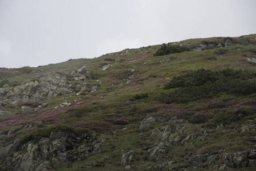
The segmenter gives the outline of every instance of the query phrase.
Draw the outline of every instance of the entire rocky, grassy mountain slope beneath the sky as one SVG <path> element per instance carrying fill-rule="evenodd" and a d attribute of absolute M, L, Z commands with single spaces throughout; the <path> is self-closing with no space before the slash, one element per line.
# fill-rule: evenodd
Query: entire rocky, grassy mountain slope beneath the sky
<path fill-rule="evenodd" d="M 0 170 L 255 170 L 256 35 L 170 44 L 1 68 Z"/>

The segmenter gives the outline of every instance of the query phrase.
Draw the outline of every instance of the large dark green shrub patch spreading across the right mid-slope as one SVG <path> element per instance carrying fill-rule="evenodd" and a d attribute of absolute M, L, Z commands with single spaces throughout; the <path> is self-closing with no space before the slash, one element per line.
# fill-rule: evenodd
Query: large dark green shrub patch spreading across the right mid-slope
<path fill-rule="evenodd" d="M 225 69 L 212 72 L 200 69 L 174 77 L 165 84 L 165 89 L 159 100 L 162 103 L 186 103 L 188 101 L 209 99 L 221 93 L 234 95 L 249 95 L 256 92 L 256 85 L 249 79 L 256 77 L 255 72 L 248 70 Z M 175 88 L 175 89 L 173 89 Z"/>

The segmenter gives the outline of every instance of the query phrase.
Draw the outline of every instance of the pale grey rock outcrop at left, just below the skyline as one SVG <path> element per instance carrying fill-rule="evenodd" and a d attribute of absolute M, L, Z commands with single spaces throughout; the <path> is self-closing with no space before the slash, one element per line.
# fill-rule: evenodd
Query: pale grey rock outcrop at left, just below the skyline
<path fill-rule="evenodd" d="M 78 70 L 79 74 L 87 74 L 87 67 L 84 66 Z M 0 96 L 3 100 L 17 106 L 25 101 L 37 101 L 42 97 L 60 96 L 74 93 L 72 83 L 75 80 L 84 81 L 84 75 L 71 76 L 75 71 L 63 70 L 62 72 L 51 72 L 50 74 L 40 75 L 37 80 L 16 86 L 9 87 L 5 84 L 0 88 Z M 7 105 L 1 102 L 0 105 Z"/>

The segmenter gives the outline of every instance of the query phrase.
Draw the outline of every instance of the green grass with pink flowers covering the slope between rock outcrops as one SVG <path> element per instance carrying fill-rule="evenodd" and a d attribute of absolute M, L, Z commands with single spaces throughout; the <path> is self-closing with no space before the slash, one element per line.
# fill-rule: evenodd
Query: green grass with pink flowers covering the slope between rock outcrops
<path fill-rule="evenodd" d="M 254 89 L 256 65 L 246 61 L 246 58 L 256 58 L 256 35 L 189 39 L 170 44 L 186 46 L 190 50 L 200 47 L 201 51 L 154 56 L 161 47 L 157 45 L 126 49 L 94 59 L 71 59 L 67 62 L 35 68 L 1 68 L 2 86 L 5 83 L 10 86 L 25 84 L 38 79 L 42 74 L 54 71 L 77 71 L 83 66 L 87 66 L 89 71 L 84 75 L 85 80 L 73 83 L 74 89 L 79 89 L 77 86 L 79 83 L 86 83 L 88 87 L 78 96 L 76 93 L 79 90 L 71 95 L 27 101 L 13 109 L 1 106 L 0 109 L 3 111 L 15 112 L 15 115 L 0 116 L 2 132 L 43 121 L 38 128 L 22 129 L 14 135 L 7 135 L 1 139 L 14 141 L 19 138 L 18 141 L 22 143 L 38 141 L 42 137 L 50 136 L 48 128 L 52 127 L 58 127 L 59 130 L 62 129 L 61 127 L 65 129 L 68 127 L 77 134 L 85 130 L 92 131 L 99 140 L 105 139 L 105 143 L 93 156 L 81 161 L 59 162 L 54 170 L 124 170 L 124 166 L 120 164 L 121 157 L 131 150 L 136 153 L 131 163 L 132 170 L 146 170 L 166 161 L 173 163 L 164 165 L 162 170 L 183 168 L 207 170 L 213 169 L 214 165 L 222 165 L 221 157 L 216 158 L 214 163 L 209 164 L 205 161 L 197 165 L 188 158 L 217 151 L 223 156 L 224 153 L 255 149 L 253 141 L 256 136 L 255 129 L 248 128 L 243 131 L 243 128 L 249 127 L 248 120 L 256 119 L 256 89 Z M 208 46 L 209 44 L 215 45 Z M 218 47 L 219 44 L 222 47 Z M 165 63 L 161 62 L 163 59 L 166 59 Z M 107 64 L 110 64 L 109 67 L 102 70 Z M 216 88 L 216 85 L 221 88 L 214 89 L 209 96 L 198 95 L 198 98 L 191 96 L 197 96 L 199 91 L 205 92 L 205 89 L 199 87 L 203 84 L 197 85 L 197 89 L 184 88 L 193 87 L 192 84 L 196 80 L 185 80 L 187 86 L 167 86 L 176 84 L 174 80 L 184 77 L 188 79 L 188 74 L 196 73 L 202 68 L 209 73 L 217 73 L 229 68 L 241 72 L 242 76 L 240 78 L 234 76 L 235 80 L 230 76 L 230 79 L 233 79 L 230 82 L 226 80 L 227 76 L 223 76 L 222 82 L 228 84 L 225 90 L 221 88 L 226 84 L 212 83 L 213 88 Z M 72 76 L 78 75 L 81 74 L 76 72 Z M 250 77 L 247 78 L 248 75 Z M 194 77 L 200 78 L 198 75 Z M 217 76 L 214 78 L 221 80 Z M 245 78 L 244 82 L 242 82 L 243 78 Z M 204 84 L 210 84 L 207 81 L 209 75 L 204 79 L 206 79 Z M 237 86 L 238 84 L 240 86 Z M 247 84 L 251 87 L 242 87 Z M 91 92 L 94 86 L 97 86 L 97 89 Z M 241 93 L 230 90 L 235 86 Z M 245 90 L 239 90 L 239 87 Z M 187 96 L 189 93 L 192 94 Z M 178 101 L 181 96 L 186 99 Z M 173 98 L 173 100 L 162 100 L 165 98 Z M 55 108 L 66 101 L 71 105 Z M 47 103 L 48 106 L 37 108 L 42 103 Z M 23 105 L 30 108 L 20 108 Z M 156 121 L 141 131 L 139 128 L 141 121 L 150 117 L 155 118 Z M 173 119 L 179 121 L 176 123 L 169 121 Z M 176 128 L 176 132 L 173 133 L 182 129 L 176 135 L 180 140 L 170 141 L 170 138 L 165 139 L 159 135 L 166 125 Z M 157 160 L 156 158 L 151 160 L 150 149 L 154 149 L 154 144 L 159 142 L 168 143 L 165 148 L 168 152 Z M 251 165 L 246 169 L 256 168 Z"/>

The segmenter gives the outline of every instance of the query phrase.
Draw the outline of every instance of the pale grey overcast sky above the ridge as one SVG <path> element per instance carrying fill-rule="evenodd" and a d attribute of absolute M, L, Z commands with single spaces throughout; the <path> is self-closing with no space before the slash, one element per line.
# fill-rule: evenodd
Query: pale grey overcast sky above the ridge
<path fill-rule="evenodd" d="M 256 33 L 255 0 L 0 0 L 0 67 Z"/>

